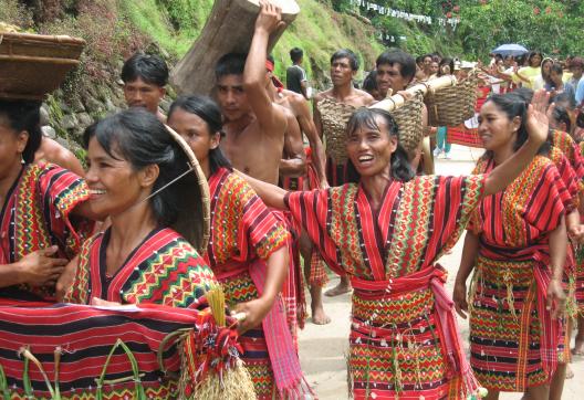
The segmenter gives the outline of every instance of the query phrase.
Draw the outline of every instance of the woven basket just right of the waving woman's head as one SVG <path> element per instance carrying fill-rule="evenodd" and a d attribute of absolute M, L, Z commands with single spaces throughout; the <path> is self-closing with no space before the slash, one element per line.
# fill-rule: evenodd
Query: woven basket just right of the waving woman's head
<path fill-rule="evenodd" d="M 424 139 L 424 120 L 421 110 L 424 108 L 424 95 L 416 95 L 404 103 L 404 105 L 392 112 L 399 131 L 399 144 L 406 151 L 414 151 L 421 139 Z"/>

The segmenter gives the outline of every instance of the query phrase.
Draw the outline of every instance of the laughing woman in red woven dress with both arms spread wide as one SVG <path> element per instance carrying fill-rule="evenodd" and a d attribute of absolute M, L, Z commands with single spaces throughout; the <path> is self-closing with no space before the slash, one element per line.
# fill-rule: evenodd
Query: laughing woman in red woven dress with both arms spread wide
<path fill-rule="evenodd" d="M 462 399 L 478 389 L 459 341 L 446 272 L 436 260 L 458 240 L 483 196 L 515 179 L 548 136 L 532 107 L 530 137 L 488 176 L 415 177 L 394 118 L 362 108 L 347 127 L 352 183 L 288 193 L 249 178 L 268 206 L 289 209 L 355 292 L 348 372 L 353 396 Z"/>

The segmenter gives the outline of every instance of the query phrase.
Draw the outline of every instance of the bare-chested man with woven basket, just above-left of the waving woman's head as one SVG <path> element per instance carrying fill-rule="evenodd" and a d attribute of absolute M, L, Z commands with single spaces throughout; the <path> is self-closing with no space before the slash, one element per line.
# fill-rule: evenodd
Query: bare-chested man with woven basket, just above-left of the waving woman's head
<path fill-rule="evenodd" d="M 333 87 L 314 97 L 314 124 L 326 143 L 326 179 L 331 186 L 346 182 L 346 124 L 355 109 L 368 106 L 375 99 L 367 92 L 353 86 L 358 60 L 351 50 L 338 50 L 331 56 Z M 336 296 L 351 290 L 348 277 L 341 276 L 340 284 L 325 295 Z"/>

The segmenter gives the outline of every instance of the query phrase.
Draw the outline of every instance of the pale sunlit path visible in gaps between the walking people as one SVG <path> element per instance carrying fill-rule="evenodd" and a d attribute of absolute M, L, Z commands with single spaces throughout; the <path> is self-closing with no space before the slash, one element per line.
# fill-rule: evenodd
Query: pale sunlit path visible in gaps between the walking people
<path fill-rule="evenodd" d="M 452 146 L 452 159 L 439 160 L 437 173 L 459 175 L 469 173 L 481 151 L 471 150 L 467 147 Z M 440 263 L 449 271 L 447 283 L 451 293 L 460 254 L 462 240 L 460 240 L 451 254 L 444 256 Z M 336 285 L 337 278 L 330 282 L 328 287 Z M 302 369 L 313 386 L 321 400 L 346 399 L 346 351 L 348 338 L 348 325 L 351 314 L 351 297 L 343 295 L 338 297 L 324 297 L 326 313 L 333 322 L 325 326 L 312 324 L 310 320 L 300 334 L 300 359 Z M 468 347 L 468 323 L 458 318 L 465 345 Z M 571 365 L 575 377 L 566 380 L 564 388 L 564 400 L 584 399 L 584 358 L 575 358 Z M 577 394 L 580 393 L 580 394 Z M 501 400 L 521 399 L 520 393 L 504 393 Z"/>

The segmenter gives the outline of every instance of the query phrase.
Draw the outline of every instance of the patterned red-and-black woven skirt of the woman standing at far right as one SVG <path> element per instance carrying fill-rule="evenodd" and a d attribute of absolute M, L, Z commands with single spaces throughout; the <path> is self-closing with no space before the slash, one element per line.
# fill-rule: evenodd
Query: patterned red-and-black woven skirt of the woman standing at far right
<path fill-rule="evenodd" d="M 479 256 L 470 290 L 470 364 L 481 386 L 524 391 L 549 380 L 543 370 L 533 261 Z M 565 333 L 564 333 L 565 335 Z M 566 357 L 563 340 L 559 361 Z"/>

